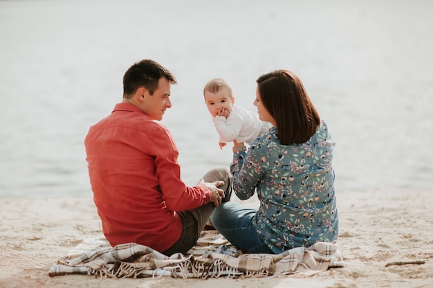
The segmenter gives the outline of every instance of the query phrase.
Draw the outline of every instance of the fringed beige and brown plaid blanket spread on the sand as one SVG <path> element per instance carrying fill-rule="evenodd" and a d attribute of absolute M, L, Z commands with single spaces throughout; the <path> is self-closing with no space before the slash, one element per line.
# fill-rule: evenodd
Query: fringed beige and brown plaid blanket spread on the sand
<path fill-rule="evenodd" d="M 203 231 L 188 253 L 176 253 L 170 257 L 135 243 L 110 247 L 104 238 L 84 241 L 52 265 L 48 275 L 80 273 L 112 278 L 239 278 L 317 273 L 343 266 L 344 260 L 336 244 L 319 242 L 278 255 L 246 254 L 230 245 L 217 231 Z"/>

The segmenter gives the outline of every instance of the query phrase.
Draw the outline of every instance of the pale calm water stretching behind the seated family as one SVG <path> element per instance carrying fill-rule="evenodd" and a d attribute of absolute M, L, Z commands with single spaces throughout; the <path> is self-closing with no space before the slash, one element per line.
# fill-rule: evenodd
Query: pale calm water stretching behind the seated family
<path fill-rule="evenodd" d="M 336 188 L 431 189 L 431 1 L 0 1 L 0 197 L 91 193 L 84 137 L 154 59 L 178 79 L 162 123 L 194 185 L 228 166 L 202 90 L 300 76 L 335 148 Z"/>

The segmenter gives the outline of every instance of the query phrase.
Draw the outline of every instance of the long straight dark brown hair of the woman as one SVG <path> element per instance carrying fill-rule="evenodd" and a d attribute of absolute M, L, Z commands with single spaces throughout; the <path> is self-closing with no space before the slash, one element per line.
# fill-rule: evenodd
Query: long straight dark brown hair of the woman
<path fill-rule="evenodd" d="M 262 104 L 275 119 L 281 144 L 302 144 L 313 136 L 320 116 L 295 73 L 275 70 L 261 75 L 257 84 Z"/>

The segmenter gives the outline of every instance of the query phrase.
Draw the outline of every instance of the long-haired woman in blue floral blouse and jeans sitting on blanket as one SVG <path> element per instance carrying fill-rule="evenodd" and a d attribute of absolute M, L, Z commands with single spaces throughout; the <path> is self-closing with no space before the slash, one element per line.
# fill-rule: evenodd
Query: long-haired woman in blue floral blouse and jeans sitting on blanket
<path fill-rule="evenodd" d="M 254 105 L 273 128 L 246 152 L 234 142 L 230 172 L 241 200 L 257 191 L 260 207 L 225 202 L 212 214 L 214 227 L 246 253 L 282 253 L 316 242 L 335 242 L 334 142 L 300 79 L 276 70 L 257 79 Z"/>

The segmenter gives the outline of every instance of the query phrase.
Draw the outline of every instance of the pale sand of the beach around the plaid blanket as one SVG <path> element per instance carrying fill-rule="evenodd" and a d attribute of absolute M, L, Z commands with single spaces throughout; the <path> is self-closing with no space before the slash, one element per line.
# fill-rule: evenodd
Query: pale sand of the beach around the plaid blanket
<path fill-rule="evenodd" d="M 345 267 L 310 276 L 208 280 L 50 278 L 48 268 L 57 258 L 84 239 L 102 236 L 91 195 L 0 198 L 0 287 L 433 287 L 432 191 L 341 191 L 337 195 L 338 245 Z M 255 200 L 246 202 L 250 207 L 255 204 Z M 409 264 L 414 261 L 418 264 Z"/>

